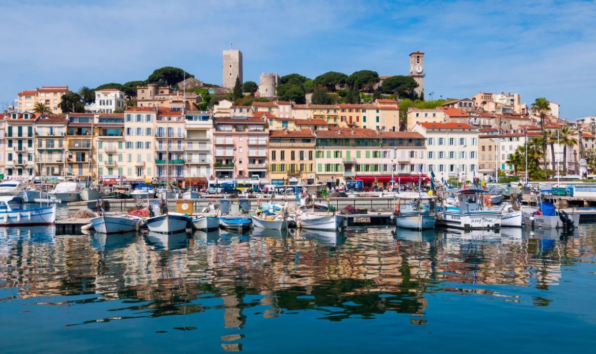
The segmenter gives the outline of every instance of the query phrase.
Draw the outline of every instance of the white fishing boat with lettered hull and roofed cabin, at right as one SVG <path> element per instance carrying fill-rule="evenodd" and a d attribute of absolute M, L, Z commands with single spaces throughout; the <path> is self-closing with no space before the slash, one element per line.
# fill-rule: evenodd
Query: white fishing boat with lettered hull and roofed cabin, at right
<path fill-rule="evenodd" d="M 485 210 L 484 189 L 451 189 L 446 193 L 453 195 L 454 204 L 437 207 L 437 224 L 455 229 L 495 229 L 501 227 L 501 212 Z"/>

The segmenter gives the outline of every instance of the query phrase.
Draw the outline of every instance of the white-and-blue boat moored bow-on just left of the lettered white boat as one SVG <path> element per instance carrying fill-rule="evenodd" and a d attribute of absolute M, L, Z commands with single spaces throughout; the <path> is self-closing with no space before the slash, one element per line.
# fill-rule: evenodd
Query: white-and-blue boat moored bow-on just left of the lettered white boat
<path fill-rule="evenodd" d="M 402 229 L 434 229 L 437 221 L 436 197 L 421 193 L 399 193 L 398 202 L 393 211 L 395 224 Z M 405 201 L 405 204 L 401 204 Z"/>

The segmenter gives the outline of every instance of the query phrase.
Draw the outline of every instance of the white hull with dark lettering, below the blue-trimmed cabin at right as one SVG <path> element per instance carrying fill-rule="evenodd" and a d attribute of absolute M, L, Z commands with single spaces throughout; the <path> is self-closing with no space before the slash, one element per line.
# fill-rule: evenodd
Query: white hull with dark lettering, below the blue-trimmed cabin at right
<path fill-rule="evenodd" d="M 464 230 L 496 229 L 501 227 L 498 211 L 437 211 L 437 225 Z"/>

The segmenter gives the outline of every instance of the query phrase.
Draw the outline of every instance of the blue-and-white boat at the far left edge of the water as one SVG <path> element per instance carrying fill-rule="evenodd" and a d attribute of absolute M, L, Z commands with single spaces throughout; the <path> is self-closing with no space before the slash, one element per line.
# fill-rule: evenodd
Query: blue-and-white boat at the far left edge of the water
<path fill-rule="evenodd" d="M 20 196 L 0 196 L 0 226 L 53 225 L 56 205 L 37 207 L 24 204 Z"/>

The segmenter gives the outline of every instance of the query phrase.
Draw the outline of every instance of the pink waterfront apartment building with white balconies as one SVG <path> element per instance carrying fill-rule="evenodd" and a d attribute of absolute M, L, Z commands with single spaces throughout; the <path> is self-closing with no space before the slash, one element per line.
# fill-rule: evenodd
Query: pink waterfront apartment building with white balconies
<path fill-rule="evenodd" d="M 267 180 L 269 129 L 262 118 L 215 119 L 213 170 L 218 179 Z"/>

